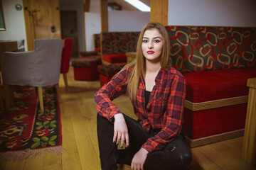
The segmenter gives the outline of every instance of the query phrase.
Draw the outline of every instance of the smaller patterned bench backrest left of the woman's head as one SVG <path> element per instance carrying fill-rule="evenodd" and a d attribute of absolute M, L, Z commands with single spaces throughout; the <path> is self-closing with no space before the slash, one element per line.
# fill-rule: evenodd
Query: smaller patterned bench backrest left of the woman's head
<path fill-rule="evenodd" d="M 122 54 L 135 52 L 140 32 L 102 33 L 102 54 Z"/>

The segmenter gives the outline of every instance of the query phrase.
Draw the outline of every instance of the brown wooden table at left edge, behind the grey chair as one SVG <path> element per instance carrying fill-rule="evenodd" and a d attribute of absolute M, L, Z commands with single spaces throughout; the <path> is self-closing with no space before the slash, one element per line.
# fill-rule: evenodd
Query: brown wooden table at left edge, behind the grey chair
<path fill-rule="evenodd" d="M 15 52 L 18 51 L 18 45 L 16 41 L 0 41 L 0 72 L 1 72 L 1 60 L 4 52 Z"/>

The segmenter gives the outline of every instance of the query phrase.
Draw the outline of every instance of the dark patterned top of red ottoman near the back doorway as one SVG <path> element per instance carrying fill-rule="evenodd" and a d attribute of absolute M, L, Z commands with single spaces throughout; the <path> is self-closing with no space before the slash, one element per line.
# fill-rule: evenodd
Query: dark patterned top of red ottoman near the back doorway
<path fill-rule="evenodd" d="M 93 67 L 101 64 L 100 55 L 77 59 L 72 62 L 73 67 Z"/>

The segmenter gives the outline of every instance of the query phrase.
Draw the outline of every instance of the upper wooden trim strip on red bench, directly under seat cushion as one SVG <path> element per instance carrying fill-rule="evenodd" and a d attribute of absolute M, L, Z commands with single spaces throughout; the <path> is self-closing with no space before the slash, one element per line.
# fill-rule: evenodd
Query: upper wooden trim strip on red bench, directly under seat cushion
<path fill-rule="evenodd" d="M 210 108 L 220 108 L 224 106 L 233 106 L 237 104 L 247 103 L 248 96 L 239 96 L 233 98 L 223 98 L 215 101 L 204 101 L 201 103 L 192 103 L 191 101 L 185 100 L 184 107 L 191 111 L 202 111 Z"/>

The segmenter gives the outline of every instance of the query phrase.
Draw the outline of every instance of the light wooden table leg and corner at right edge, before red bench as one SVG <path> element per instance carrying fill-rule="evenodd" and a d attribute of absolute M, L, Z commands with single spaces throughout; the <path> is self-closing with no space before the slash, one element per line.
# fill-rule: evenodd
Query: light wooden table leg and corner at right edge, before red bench
<path fill-rule="evenodd" d="M 256 165 L 256 78 L 248 79 L 250 87 L 247 104 L 245 135 L 242 145 L 242 159 L 245 162 Z"/>

